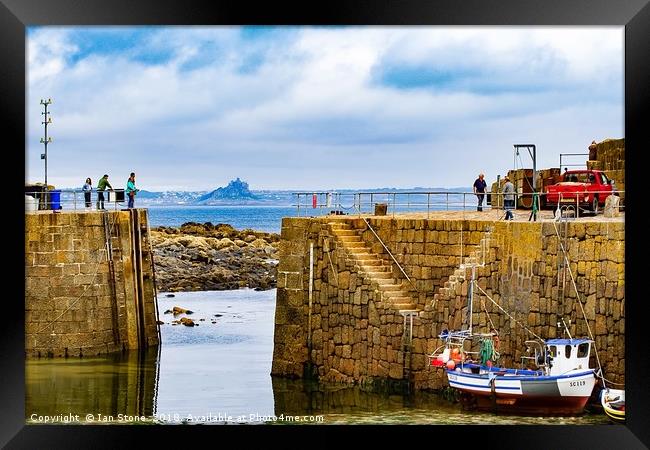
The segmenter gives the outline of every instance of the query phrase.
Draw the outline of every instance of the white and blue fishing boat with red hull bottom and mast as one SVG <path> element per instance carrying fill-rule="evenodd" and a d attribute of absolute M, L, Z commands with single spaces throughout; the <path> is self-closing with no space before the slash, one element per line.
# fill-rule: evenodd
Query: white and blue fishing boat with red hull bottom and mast
<path fill-rule="evenodd" d="M 473 332 L 475 286 L 475 266 L 472 266 L 468 289 L 469 326 L 460 331 L 444 330 L 439 335 L 444 344 L 429 355 L 430 364 L 445 371 L 449 386 L 463 394 L 461 398 L 465 406 L 522 415 L 576 415 L 584 412 L 596 384 L 596 370 L 589 367 L 594 341 L 572 338 L 564 320 L 562 323 L 568 338 L 542 339 L 476 286 L 511 320 L 535 337 L 525 342 L 527 349 L 521 357 L 521 367 L 497 367 L 500 355 L 496 330 Z M 468 342 L 470 345 L 466 345 Z M 476 344 L 479 350 L 470 351 Z"/>

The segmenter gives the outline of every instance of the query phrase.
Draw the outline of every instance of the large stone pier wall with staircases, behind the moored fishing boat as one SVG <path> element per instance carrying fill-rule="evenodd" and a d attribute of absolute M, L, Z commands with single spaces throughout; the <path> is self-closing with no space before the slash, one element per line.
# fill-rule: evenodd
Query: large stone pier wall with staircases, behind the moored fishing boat
<path fill-rule="evenodd" d="M 564 230 L 560 227 L 565 225 L 554 222 L 370 219 L 415 284 L 412 295 L 418 315 L 410 337 L 410 324 L 405 327 L 405 317 L 387 301 L 381 286 L 360 273 L 328 221 L 365 230 L 360 233 L 366 245 L 388 259 L 362 219 L 285 218 L 272 374 L 373 385 L 409 381 L 416 389 L 444 386 L 442 371 L 429 366 L 427 355 L 442 344 L 437 336 L 443 329 L 458 329 L 467 317 L 470 270 L 458 267 L 461 252 L 466 262 L 484 263 L 477 268 L 478 286 L 533 333 L 562 336 L 557 323 L 564 318 L 572 336 L 587 336 L 570 275 L 566 271 L 563 277 L 561 270 L 561 240 L 605 376 L 623 382 L 622 220 L 572 221 Z M 311 308 L 310 243 L 314 244 Z M 478 289 L 473 323 L 478 332 L 488 332 L 491 324 L 499 331 L 500 364 L 519 364 L 524 341 L 531 335 Z"/>

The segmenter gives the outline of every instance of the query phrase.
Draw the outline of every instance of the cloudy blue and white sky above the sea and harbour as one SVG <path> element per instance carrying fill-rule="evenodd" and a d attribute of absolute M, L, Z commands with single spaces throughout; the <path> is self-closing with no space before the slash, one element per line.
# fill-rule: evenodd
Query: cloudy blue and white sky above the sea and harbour
<path fill-rule="evenodd" d="M 26 181 L 471 186 L 624 137 L 623 27 L 29 27 Z M 570 160 L 584 163 L 587 157 Z"/>

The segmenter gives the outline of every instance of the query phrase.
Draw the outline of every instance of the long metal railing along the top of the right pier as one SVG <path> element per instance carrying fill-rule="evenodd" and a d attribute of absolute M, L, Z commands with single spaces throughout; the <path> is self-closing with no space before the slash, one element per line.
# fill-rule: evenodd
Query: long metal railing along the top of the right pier
<path fill-rule="evenodd" d="M 625 191 L 587 191 L 587 196 L 617 195 L 624 198 Z M 378 204 L 386 205 L 388 214 L 393 216 L 396 213 L 426 213 L 427 218 L 434 211 L 476 211 L 478 198 L 474 192 L 295 192 L 298 216 L 320 216 L 327 214 L 374 214 L 374 208 Z M 511 195 L 515 198 L 515 209 L 531 210 L 534 196 L 538 197 L 539 209 L 555 209 L 556 202 L 547 201 L 546 192 L 515 192 L 504 194 L 503 192 L 486 192 L 482 210 L 505 211 L 503 196 Z M 589 211 L 590 204 L 585 202 L 585 192 L 578 192 L 567 196 L 559 194 L 559 204 L 574 204 L 576 210 L 583 213 Z M 526 204 L 528 203 L 528 204 Z M 602 200 L 599 200 L 599 204 Z M 624 210 L 624 205 L 619 204 Z M 600 206 L 599 206 L 600 209 Z"/>

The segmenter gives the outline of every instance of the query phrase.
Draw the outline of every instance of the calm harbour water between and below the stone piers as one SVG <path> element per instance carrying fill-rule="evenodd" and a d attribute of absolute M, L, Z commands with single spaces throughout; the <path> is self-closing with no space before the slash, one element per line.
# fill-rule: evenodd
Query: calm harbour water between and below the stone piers
<path fill-rule="evenodd" d="M 194 311 L 189 317 L 199 326 L 172 325 L 174 317 L 164 311 L 174 306 Z M 282 415 L 322 415 L 319 423 L 325 424 L 538 424 L 540 420 L 468 413 L 432 393 L 384 395 L 359 387 L 272 378 L 275 290 L 161 295 L 159 311 L 165 322 L 160 349 L 103 358 L 27 360 L 28 421 L 32 414 L 78 414 L 81 421 L 86 414 L 125 414 L 163 423 L 282 423 L 267 420 Z M 544 423 L 608 420 L 599 413 L 544 418 Z"/>

